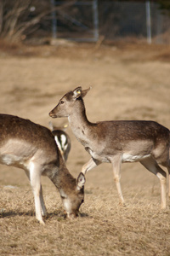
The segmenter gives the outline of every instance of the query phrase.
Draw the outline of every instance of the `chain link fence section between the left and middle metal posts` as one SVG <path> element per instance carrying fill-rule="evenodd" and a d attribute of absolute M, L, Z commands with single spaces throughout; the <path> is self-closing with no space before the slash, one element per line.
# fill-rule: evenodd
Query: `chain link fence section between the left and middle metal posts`
<path fill-rule="evenodd" d="M 51 0 L 53 8 L 60 4 L 64 3 Z M 57 20 L 61 27 L 59 27 Z M 58 35 L 63 33 L 63 27 L 67 24 L 67 33 L 71 34 L 71 36 L 73 35 L 73 37 L 75 36 L 70 39 L 78 41 L 97 41 L 99 38 L 98 1 L 77 1 L 69 7 L 65 7 L 65 11 L 58 14 L 56 11 L 53 11 L 52 24 L 53 38 L 58 38 Z M 84 38 L 81 37 L 81 33 L 84 35 Z"/>

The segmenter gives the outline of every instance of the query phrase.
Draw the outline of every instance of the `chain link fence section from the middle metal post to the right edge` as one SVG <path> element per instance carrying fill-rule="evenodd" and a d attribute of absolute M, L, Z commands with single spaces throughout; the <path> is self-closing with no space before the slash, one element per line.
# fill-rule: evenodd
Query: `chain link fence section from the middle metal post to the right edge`
<path fill-rule="evenodd" d="M 170 17 L 161 12 L 158 4 L 149 1 L 100 3 L 99 24 L 99 33 L 106 39 L 136 38 L 150 42 L 151 38 L 157 44 L 170 43 Z"/>

